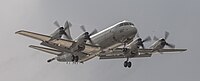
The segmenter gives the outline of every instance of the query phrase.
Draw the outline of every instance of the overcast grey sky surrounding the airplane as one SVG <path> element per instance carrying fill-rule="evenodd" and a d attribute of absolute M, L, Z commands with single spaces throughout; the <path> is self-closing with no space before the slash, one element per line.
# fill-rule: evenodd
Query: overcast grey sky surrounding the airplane
<path fill-rule="evenodd" d="M 0 1 L 0 81 L 199 81 L 200 77 L 199 0 L 1 0 Z M 46 60 L 52 55 L 28 48 L 39 41 L 15 35 L 25 29 L 51 34 L 69 20 L 75 38 L 85 25 L 88 31 L 102 30 L 122 20 L 132 21 L 142 38 L 163 37 L 183 53 L 131 59 L 133 67 L 123 67 L 125 59 L 98 60 L 70 64 Z M 149 46 L 150 43 L 146 43 Z"/>

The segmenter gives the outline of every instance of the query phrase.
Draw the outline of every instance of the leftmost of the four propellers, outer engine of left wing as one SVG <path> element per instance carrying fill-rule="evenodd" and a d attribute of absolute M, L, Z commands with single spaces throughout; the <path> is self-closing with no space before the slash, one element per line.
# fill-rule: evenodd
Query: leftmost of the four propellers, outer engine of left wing
<path fill-rule="evenodd" d="M 55 21 L 54 25 L 59 28 L 59 33 L 64 34 L 68 39 L 72 39 L 72 37 L 70 35 L 70 30 L 69 30 L 69 27 L 72 26 L 72 24 L 70 22 L 66 21 L 64 26 L 60 26 L 58 21 Z"/>

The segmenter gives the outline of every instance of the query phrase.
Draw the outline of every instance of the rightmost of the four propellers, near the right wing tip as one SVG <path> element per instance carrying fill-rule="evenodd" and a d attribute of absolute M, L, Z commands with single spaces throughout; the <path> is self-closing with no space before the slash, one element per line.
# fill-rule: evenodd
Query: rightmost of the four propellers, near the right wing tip
<path fill-rule="evenodd" d="M 167 38 L 169 37 L 169 32 L 165 32 L 165 37 L 164 38 L 161 38 L 160 40 L 154 36 L 154 38 L 158 39 L 159 41 L 161 41 L 161 45 L 167 45 L 168 47 L 170 48 L 175 48 L 175 45 L 174 44 L 170 44 L 168 43 L 166 40 Z"/>

